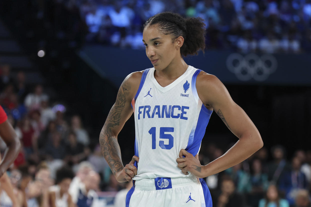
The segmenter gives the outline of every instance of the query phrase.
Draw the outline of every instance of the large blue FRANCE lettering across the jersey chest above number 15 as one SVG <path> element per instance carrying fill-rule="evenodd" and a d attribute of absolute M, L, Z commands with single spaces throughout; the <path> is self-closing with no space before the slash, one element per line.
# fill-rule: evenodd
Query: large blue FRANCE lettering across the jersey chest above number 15
<path fill-rule="evenodd" d="M 172 105 L 156 105 L 151 109 L 151 106 L 139 106 L 138 107 L 138 119 L 142 118 L 174 118 L 188 120 L 187 109 L 189 106 L 172 106 Z"/>

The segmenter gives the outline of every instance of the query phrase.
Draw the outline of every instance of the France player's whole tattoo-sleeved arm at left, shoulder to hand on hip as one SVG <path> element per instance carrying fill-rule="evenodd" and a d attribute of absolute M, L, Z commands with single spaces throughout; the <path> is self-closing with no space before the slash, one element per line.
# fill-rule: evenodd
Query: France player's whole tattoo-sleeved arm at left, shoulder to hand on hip
<path fill-rule="evenodd" d="M 141 77 L 142 72 L 134 72 L 124 79 L 119 88 L 117 99 L 100 132 L 101 151 L 118 182 L 131 181 L 137 174 L 137 169 L 134 166 L 134 161 L 138 161 L 137 156 L 132 158 L 130 164 L 123 166 L 118 133 L 133 113 L 131 101 L 138 90 Z"/>

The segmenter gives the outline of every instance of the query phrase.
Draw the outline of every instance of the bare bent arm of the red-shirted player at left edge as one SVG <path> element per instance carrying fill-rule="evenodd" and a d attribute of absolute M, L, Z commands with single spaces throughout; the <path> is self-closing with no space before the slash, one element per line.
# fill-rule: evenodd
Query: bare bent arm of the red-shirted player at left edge
<path fill-rule="evenodd" d="M 0 124 L 0 137 L 7 145 L 7 149 L 4 152 L 3 159 L 0 162 L 0 177 L 7 171 L 9 166 L 15 160 L 18 152 L 21 149 L 21 143 L 15 133 L 12 125 L 6 120 Z"/>

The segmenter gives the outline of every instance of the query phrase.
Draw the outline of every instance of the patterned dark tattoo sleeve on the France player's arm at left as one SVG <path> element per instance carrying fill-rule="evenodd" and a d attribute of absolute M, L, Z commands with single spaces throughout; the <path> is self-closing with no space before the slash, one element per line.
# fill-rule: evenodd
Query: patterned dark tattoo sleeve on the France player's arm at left
<path fill-rule="evenodd" d="M 117 173 L 123 169 L 121 160 L 121 150 L 117 137 L 112 133 L 112 129 L 120 124 L 121 113 L 125 107 L 126 97 L 129 95 L 130 85 L 126 80 L 119 88 L 117 100 L 112 106 L 107 116 L 106 122 L 100 132 L 100 148 L 112 173 Z"/>

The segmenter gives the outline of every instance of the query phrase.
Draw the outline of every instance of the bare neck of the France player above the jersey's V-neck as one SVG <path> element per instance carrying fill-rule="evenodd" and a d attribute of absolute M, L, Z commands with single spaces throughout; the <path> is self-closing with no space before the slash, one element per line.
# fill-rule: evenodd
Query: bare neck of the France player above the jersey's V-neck
<path fill-rule="evenodd" d="M 181 58 L 177 61 L 172 61 L 165 69 L 156 70 L 155 77 L 161 77 L 169 80 L 175 80 L 181 76 L 188 68 L 187 63 Z"/>

